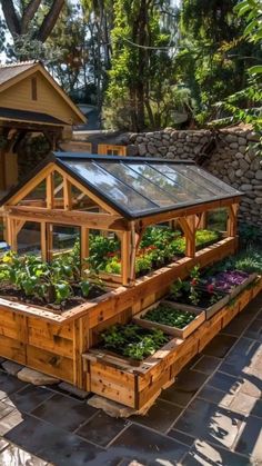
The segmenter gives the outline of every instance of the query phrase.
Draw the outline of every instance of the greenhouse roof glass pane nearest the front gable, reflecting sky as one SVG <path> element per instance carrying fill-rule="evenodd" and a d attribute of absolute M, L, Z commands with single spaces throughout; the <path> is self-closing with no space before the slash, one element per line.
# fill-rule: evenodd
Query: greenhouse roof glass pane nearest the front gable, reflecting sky
<path fill-rule="evenodd" d="M 104 171 L 94 162 L 69 160 L 63 162 L 77 171 L 85 181 L 100 190 L 101 194 L 131 212 L 145 211 L 158 207 L 155 204 L 140 196 L 132 188 L 129 188 L 112 175 Z"/>

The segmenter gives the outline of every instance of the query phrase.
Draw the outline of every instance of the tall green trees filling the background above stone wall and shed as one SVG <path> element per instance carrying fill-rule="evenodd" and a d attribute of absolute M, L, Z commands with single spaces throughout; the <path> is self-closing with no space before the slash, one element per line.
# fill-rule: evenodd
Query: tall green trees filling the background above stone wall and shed
<path fill-rule="evenodd" d="M 107 128 L 203 126 L 232 113 L 232 96 L 238 118 L 259 106 L 261 0 L 183 0 L 180 9 L 171 0 L 0 4 L 7 59 L 44 61 Z"/>

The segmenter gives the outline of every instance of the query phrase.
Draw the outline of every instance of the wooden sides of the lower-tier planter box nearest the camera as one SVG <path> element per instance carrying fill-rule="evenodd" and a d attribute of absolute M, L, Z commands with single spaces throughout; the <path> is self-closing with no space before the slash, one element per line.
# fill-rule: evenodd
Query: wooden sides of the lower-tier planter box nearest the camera
<path fill-rule="evenodd" d="M 107 351 L 91 350 L 84 354 L 90 390 L 137 410 L 144 408 L 160 395 L 163 387 L 173 383 L 175 371 L 172 365 L 181 351 L 181 341 L 178 338 L 170 340 L 139 367 Z M 196 353 L 196 343 L 190 345 L 183 351 L 184 360 L 189 361 Z M 175 365 L 179 367 L 178 363 Z"/>

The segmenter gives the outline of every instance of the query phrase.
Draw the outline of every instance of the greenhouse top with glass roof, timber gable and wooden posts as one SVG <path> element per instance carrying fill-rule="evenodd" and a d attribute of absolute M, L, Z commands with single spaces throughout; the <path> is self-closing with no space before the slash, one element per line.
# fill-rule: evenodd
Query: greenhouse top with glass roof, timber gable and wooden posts
<path fill-rule="evenodd" d="M 52 260 L 56 231 L 61 236 L 63 226 L 64 240 L 78 228 L 82 260 L 89 257 L 90 230 L 114 232 L 121 244 L 117 282 L 127 286 L 135 279 L 135 255 L 147 227 L 175 220 L 184 232 L 185 256 L 194 257 L 195 231 L 206 211 L 226 208 L 226 235 L 236 236 L 240 197 L 188 160 L 53 152 L 1 205 L 11 248 L 19 249 L 21 231 L 30 224 L 44 260 Z"/>

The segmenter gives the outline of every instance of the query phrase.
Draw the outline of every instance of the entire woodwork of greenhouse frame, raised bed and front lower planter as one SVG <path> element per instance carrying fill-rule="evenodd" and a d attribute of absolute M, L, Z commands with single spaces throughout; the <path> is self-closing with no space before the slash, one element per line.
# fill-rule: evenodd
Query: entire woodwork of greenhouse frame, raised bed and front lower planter
<path fill-rule="evenodd" d="M 61 177 L 57 189 L 56 173 Z M 43 181 L 46 199 L 27 199 L 28 195 Z M 73 196 L 73 188 L 78 190 L 77 197 Z M 112 231 L 121 242 L 121 275 L 110 277 L 111 290 L 61 315 L 44 307 L 0 298 L 0 356 L 95 393 L 102 393 L 99 374 L 104 376 L 104 380 L 111 377 L 104 388 L 104 396 L 135 409 L 144 408 L 164 386 L 172 383 L 175 374 L 199 350 L 199 347 L 219 331 L 221 321 L 218 324 L 211 319 L 209 324 L 203 323 L 194 328 L 192 335 L 184 335 L 185 346 L 181 346 L 180 338 L 179 341 L 178 338 L 175 341 L 172 340 L 164 348 L 167 359 L 163 359 L 159 351 L 158 364 L 152 359 L 150 361 L 152 371 L 147 369 L 143 375 L 141 369 L 135 374 L 125 370 L 123 361 L 121 369 L 119 361 L 114 361 L 112 366 L 112 360 L 108 357 L 101 361 L 98 355 L 91 354 L 90 349 L 97 345 L 98 334 L 101 330 L 115 323 L 125 324 L 132 320 L 138 313 L 167 295 L 172 282 L 178 278 L 185 278 L 195 265 L 205 267 L 235 252 L 239 199 L 236 196 L 138 219 L 125 218 L 112 205 L 108 205 L 105 198 L 100 198 L 91 188 L 83 186 L 81 179 L 74 178 L 73 173 L 70 175 L 56 161 L 49 161 L 20 190 L 9 196 L 3 206 L 6 232 L 11 248 L 17 249 L 18 234 L 27 221 L 38 222 L 42 258 L 51 260 L 52 226 L 78 227 L 83 264 L 83 259 L 90 254 L 90 230 L 99 230 L 104 235 L 107 231 Z M 79 201 L 82 204 L 78 205 Z M 204 225 L 205 212 L 216 207 L 229 209 L 228 237 L 196 250 L 195 231 Z M 137 279 L 135 255 L 142 236 L 148 226 L 165 221 L 172 225 L 178 222 L 181 226 L 185 237 L 185 257 Z M 84 274 L 84 267 L 82 271 Z M 224 318 L 229 319 L 228 313 L 224 314 Z M 195 340 L 193 335 L 200 335 L 202 326 L 205 326 L 206 331 Z M 87 351 L 89 356 L 82 358 Z M 114 367 L 114 375 L 111 373 L 109 376 L 108 367 L 111 367 L 110 370 Z M 120 373 L 122 375 L 119 375 Z M 115 395 L 114 388 L 111 389 L 112 395 L 109 394 L 113 377 L 117 386 L 119 385 L 117 393 L 120 395 Z"/>

